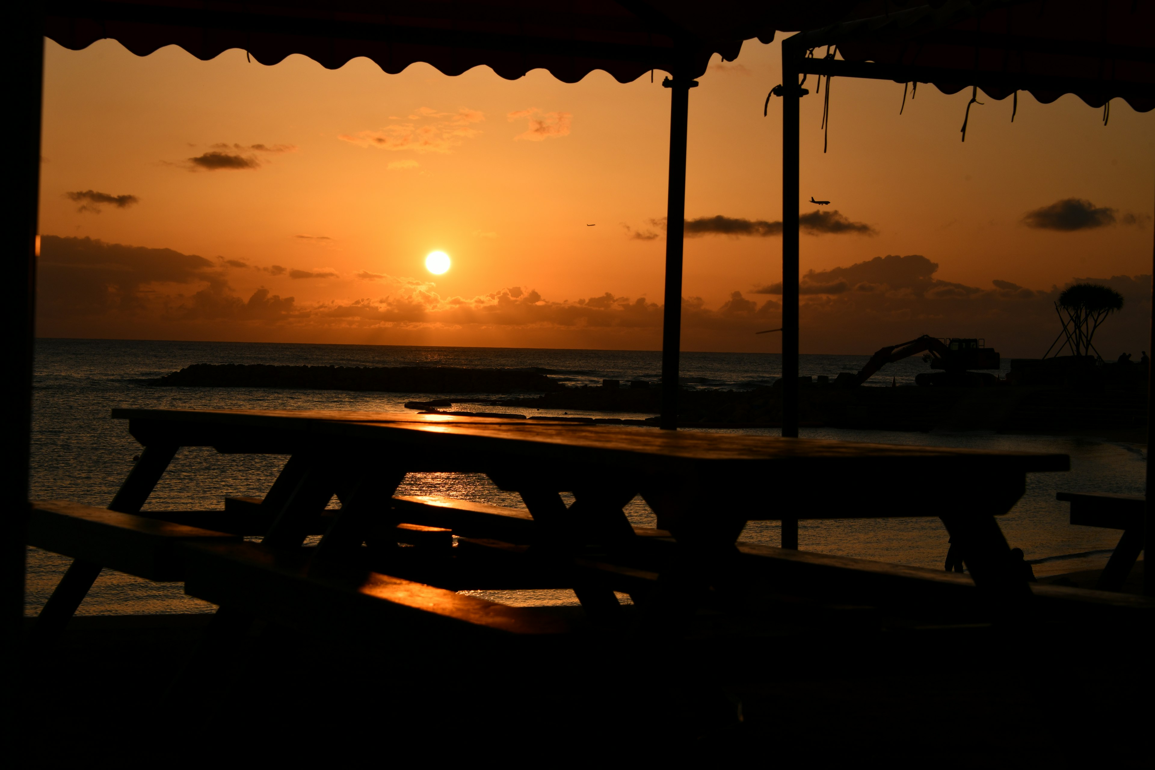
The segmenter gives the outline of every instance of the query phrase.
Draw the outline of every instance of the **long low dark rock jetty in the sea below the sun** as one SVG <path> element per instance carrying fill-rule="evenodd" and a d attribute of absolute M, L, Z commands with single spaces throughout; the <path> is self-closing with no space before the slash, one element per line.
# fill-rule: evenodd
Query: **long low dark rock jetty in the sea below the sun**
<path fill-rule="evenodd" d="M 194 364 L 149 384 L 161 388 L 291 388 L 381 393 L 550 393 L 562 386 L 544 374 L 452 366 L 275 366 Z"/>

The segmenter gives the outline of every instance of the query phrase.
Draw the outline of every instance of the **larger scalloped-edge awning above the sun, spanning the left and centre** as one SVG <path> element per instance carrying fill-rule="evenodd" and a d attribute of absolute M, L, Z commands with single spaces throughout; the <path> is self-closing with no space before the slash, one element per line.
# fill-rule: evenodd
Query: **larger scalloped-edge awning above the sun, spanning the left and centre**
<path fill-rule="evenodd" d="M 651 69 L 684 77 L 710 57 L 732 60 L 743 40 L 813 29 L 856 3 L 787 0 L 191 0 L 49 1 L 45 35 L 81 50 L 112 38 L 137 55 L 179 45 L 207 60 L 240 48 L 273 65 L 298 53 L 336 69 L 366 57 L 387 73 L 424 61 L 446 75 L 480 65 L 501 77 L 547 69 L 567 83 L 595 69 L 628 82 Z"/>

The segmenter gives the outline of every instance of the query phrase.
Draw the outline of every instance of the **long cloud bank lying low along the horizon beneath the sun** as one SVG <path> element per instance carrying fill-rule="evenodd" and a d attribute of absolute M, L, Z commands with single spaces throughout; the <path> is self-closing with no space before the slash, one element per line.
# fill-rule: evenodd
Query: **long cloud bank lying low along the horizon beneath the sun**
<path fill-rule="evenodd" d="M 298 302 L 264 286 L 234 289 L 229 283 L 233 276 L 263 276 L 232 272 L 226 262 L 173 249 L 44 236 L 38 332 L 627 350 L 661 345 L 663 308 L 646 297 L 604 291 L 567 300 L 516 285 L 444 296 L 430 282 L 363 271 L 357 277 L 367 283 L 329 285 L 334 292 L 371 287 L 372 297 Z M 1067 285 L 1081 282 L 1110 286 L 1126 299 L 1124 311 L 1096 332 L 1103 356 L 1147 349 L 1150 276 L 1074 277 Z M 982 286 L 945 281 L 936 262 L 917 254 L 811 270 L 800 281 L 802 350 L 869 354 L 931 334 L 982 337 L 1005 358 L 1037 358 L 1059 334 L 1053 301 L 1063 289 L 1037 290 L 1001 278 Z M 711 302 L 684 297 L 683 344 L 692 350 L 774 352 L 777 342 L 754 332 L 781 326 L 781 290 L 770 285 L 758 292 L 730 291 Z"/>

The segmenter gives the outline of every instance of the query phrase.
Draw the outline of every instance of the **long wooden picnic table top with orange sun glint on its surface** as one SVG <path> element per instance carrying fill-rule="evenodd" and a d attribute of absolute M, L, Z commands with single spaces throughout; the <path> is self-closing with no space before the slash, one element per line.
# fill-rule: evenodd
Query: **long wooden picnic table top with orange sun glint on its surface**
<path fill-rule="evenodd" d="M 648 427 L 551 423 L 511 418 L 417 414 L 412 412 L 267 411 L 114 409 L 114 419 L 131 420 L 137 439 L 161 443 L 171 434 L 177 446 L 217 446 L 230 436 L 261 436 L 276 433 L 320 446 L 356 442 L 382 449 L 397 444 L 462 454 L 524 456 L 538 462 L 551 459 L 595 464 L 678 461 L 693 464 L 742 466 L 848 464 L 860 474 L 864 466 L 878 472 L 1024 473 L 1066 471 L 1066 455 L 914 447 L 817 439 L 782 439 L 765 435 L 660 431 Z M 148 443 L 149 441 L 146 441 Z M 664 463 L 662 463 L 664 464 Z M 957 479 L 964 483 L 963 479 Z M 978 480 L 978 479 L 976 479 Z M 880 484 L 901 479 L 880 478 Z"/>

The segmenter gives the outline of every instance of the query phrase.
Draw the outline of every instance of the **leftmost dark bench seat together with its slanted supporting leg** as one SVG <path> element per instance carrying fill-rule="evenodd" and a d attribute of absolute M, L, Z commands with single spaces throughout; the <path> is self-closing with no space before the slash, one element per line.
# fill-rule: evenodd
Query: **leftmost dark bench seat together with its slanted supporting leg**
<path fill-rule="evenodd" d="M 35 643 L 50 644 L 64 630 L 100 569 L 114 569 L 149 581 L 180 581 L 184 578 L 184 552 L 178 544 L 239 540 L 239 534 L 107 508 L 60 500 L 33 501 L 28 544 L 73 559 L 37 616 Z"/>

